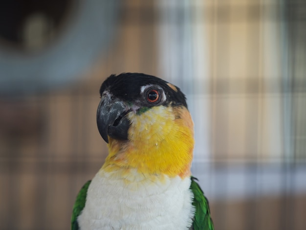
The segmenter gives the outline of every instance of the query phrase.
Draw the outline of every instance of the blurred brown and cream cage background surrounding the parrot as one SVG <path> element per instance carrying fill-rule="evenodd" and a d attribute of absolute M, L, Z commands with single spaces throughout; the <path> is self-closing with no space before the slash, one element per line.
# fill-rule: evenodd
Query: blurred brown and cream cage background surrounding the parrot
<path fill-rule="evenodd" d="M 305 230 L 306 2 L 1 0 L 0 229 L 64 230 L 112 73 L 187 96 L 217 230 Z"/>

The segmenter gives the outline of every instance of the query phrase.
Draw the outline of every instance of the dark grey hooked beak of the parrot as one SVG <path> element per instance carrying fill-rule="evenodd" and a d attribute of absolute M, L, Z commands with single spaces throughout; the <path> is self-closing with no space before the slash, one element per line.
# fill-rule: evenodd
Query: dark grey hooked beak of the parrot
<path fill-rule="evenodd" d="M 109 137 L 120 140 L 128 139 L 130 121 L 126 117 L 128 107 L 109 96 L 101 99 L 97 110 L 97 125 L 101 137 L 109 143 Z"/>

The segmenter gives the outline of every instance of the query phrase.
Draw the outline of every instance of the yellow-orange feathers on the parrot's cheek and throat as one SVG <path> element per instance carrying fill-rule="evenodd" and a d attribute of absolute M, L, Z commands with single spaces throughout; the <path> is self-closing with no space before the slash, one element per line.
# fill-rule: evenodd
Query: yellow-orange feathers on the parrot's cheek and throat
<path fill-rule="evenodd" d="M 181 178 L 191 175 L 194 131 L 185 107 L 156 106 L 128 117 L 129 141 L 109 138 L 105 170 L 136 169 L 143 174 Z"/>

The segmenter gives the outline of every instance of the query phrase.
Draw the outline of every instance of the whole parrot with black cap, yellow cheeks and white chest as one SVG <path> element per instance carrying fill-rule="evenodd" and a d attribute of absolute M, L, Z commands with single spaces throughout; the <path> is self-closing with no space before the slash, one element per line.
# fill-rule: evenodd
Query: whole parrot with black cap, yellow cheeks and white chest
<path fill-rule="evenodd" d="M 144 73 L 100 87 L 98 131 L 108 156 L 73 206 L 71 230 L 214 230 L 191 174 L 194 123 L 175 85 Z"/>

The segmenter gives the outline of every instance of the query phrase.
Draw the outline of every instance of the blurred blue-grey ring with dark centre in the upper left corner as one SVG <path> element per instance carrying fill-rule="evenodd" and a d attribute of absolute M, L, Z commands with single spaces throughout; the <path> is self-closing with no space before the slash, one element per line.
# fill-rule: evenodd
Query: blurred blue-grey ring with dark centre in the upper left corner
<path fill-rule="evenodd" d="M 0 95 L 74 82 L 104 53 L 118 0 L 1 1 Z"/>

